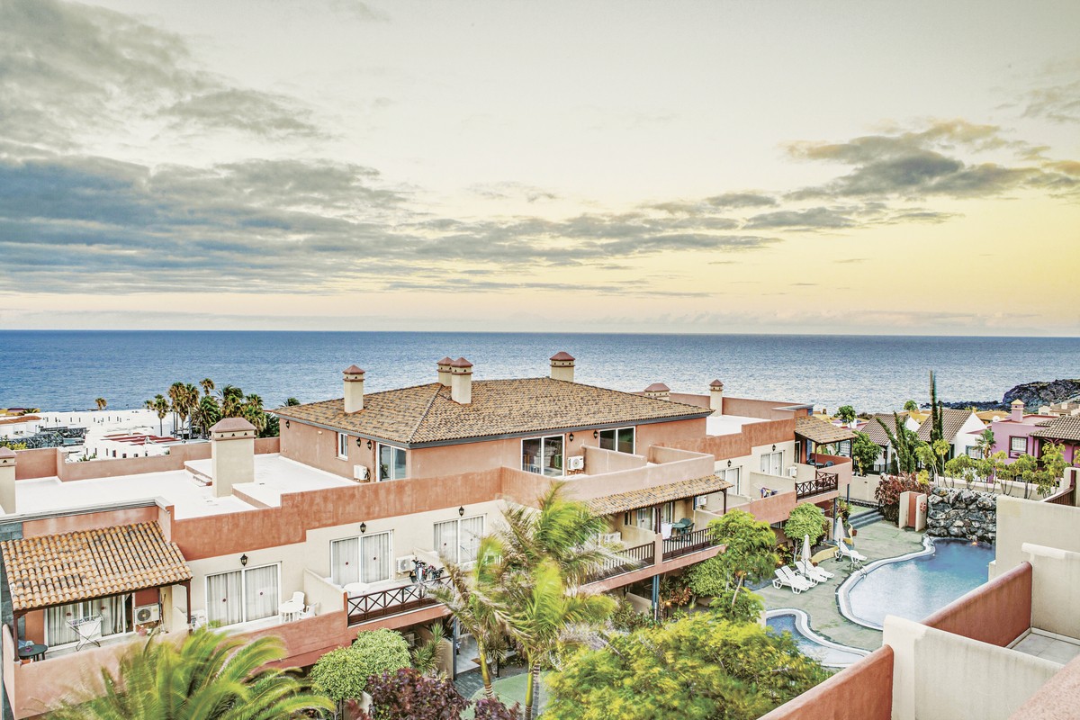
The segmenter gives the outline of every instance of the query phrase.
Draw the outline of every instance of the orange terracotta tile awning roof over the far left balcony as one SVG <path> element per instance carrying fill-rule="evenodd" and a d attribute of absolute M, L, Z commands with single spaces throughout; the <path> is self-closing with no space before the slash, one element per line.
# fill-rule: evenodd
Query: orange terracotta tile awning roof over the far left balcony
<path fill-rule="evenodd" d="M 157 522 L 8 540 L 0 553 L 15 612 L 191 580 Z"/>

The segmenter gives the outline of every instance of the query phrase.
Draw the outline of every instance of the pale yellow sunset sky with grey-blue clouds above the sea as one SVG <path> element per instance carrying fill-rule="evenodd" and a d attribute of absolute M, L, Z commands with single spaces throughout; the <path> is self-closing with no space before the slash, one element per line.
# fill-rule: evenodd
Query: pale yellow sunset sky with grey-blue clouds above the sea
<path fill-rule="evenodd" d="M 1077 335 L 1077 27 L 0 0 L 0 328 Z"/>

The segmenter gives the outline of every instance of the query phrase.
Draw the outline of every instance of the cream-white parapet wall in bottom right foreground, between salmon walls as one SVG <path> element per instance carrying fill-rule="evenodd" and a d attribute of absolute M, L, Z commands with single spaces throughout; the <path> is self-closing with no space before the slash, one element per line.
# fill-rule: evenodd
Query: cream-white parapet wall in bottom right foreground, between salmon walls
<path fill-rule="evenodd" d="M 1007 720 L 1063 665 L 889 615 L 892 720 Z"/>

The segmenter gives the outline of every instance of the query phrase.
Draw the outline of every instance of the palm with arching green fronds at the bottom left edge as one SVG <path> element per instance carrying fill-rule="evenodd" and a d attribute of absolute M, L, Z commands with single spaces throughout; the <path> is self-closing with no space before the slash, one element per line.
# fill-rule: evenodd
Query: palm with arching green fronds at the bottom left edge
<path fill-rule="evenodd" d="M 179 647 L 151 639 L 120 661 L 116 676 L 102 671 L 105 694 L 73 699 L 56 720 L 276 720 L 332 710 L 291 671 L 278 638 L 254 641 L 200 629 Z"/>

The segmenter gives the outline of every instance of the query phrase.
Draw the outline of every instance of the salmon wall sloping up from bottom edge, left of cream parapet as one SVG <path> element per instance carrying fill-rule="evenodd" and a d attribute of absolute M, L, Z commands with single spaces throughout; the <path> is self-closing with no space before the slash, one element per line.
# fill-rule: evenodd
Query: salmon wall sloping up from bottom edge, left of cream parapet
<path fill-rule="evenodd" d="M 806 720 L 806 718 L 890 720 L 892 661 L 892 648 L 889 646 L 878 648 L 816 688 L 761 716 L 760 720 Z"/>

